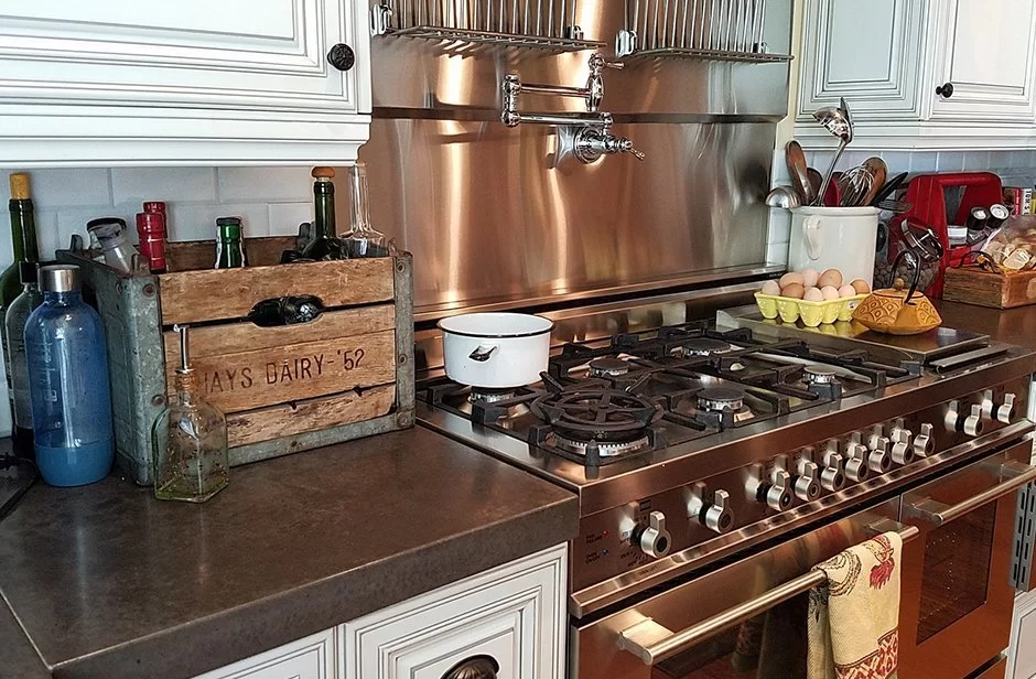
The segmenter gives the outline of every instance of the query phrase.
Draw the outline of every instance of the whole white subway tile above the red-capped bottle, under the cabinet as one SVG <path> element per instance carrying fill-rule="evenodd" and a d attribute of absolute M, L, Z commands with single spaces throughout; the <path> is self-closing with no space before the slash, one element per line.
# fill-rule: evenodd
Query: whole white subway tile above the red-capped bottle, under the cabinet
<path fill-rule="evenodd" d="M 116 205 L 133 204 L 133 214 L 144 201 L 216 202 L 213 168 L 112 168 L 111 197 Z"/>

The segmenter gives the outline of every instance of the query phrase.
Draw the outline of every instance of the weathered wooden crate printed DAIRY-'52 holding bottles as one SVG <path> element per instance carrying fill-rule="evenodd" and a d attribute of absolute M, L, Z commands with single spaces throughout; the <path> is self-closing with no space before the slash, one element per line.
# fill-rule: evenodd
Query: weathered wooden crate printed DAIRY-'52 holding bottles
<path fill-rule="evenodd" d="M 107 332 L 117 465 L 151 483 L 151 424 L 180 363 L 173 324 L 191 325 L 203 397 L 227 416 L 231 465 L 413 424 L 412 259 L 276 263 L 294 238 L 247 241 L 249 267 L 212 269 L 212 240 L 169 244 L 170 271 L 78 265 Z M 245 320 L 258 302 L 312 294 L 326 311 L 299 325 Z"/>

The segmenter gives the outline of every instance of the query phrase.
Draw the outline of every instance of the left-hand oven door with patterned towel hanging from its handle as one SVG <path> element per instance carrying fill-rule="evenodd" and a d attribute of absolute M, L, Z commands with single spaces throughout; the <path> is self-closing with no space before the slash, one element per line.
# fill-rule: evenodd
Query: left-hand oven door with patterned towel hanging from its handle
<path fill-rule="evenodd" d="M 799 679 L 806 606 L 823 575 L 812 567 L 876 534 L 917 529 L 889 502 L 827 524 L 672 586 L 633 606 L 575 623 L 573 679 Z M 905 531 L 905 532 L 904 532 Z"/>

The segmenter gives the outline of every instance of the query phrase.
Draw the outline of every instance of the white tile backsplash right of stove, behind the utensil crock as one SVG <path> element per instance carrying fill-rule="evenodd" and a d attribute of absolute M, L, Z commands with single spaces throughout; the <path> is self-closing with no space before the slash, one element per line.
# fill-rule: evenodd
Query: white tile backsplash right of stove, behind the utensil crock
<path fill-rule="evenodd" d="M 850 147 L 851 148 L 851 147 Z M 831 152 L 812 152 L 806 154 L 810 166 L 821 172 L 825 171 L 831 162 Z M 846 151 L 839 161 L 839 169 L 852 168 L 867 158 L 875 155 L 868 152 Z M 1008 186 L 1033 186 L 1036 184 L 1036 151 L 969 151 L 967 153 L 918 151 L 908 153 L 895 151 L 878 153 L 888 165 L 889 174 L 909 172 L 910 174 L 929 174 L 932 172 L 995 172 Z M 774 153 L 773 164 L 774 186 L 790 183 L 788 169 L 785 164 L 784 149 Z M 770 209 L 769 228 L 767 233 L 766 259 L 774 263 L 787 263 L 788 242 L 791 235 L 791 215 L 784 209 Z"/>

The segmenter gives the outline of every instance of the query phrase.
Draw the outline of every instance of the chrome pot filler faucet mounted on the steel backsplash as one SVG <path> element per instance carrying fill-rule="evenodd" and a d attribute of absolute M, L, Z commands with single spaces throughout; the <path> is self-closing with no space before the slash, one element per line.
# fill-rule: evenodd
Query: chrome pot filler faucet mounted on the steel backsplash
<path fill-rule="evenodd" d="M 565 146 L 581 162 L 592 163 L 602 155 L 616 153 L 632 153 L 637 160 L 645 155 L 633 148 L 633 142 L 625 137 L 612 134 L 612 114 L 602 111 L 601 100 L 604 98 L 604 69 L 622 68 L 622 62 L 608 62 L 594 53 L 590 57 L 590 77 L 585 87 L 566 87 L 564 85 L 532 85 L 522 83 L 517 74 L 504 76 L 504 110 L 500 111 L 500 121 L 507 127 L 518 127 L 522 122 L 540 125 L 557 125 L 562 128 L 574 128 L 563 133 Z M 578 97 L 586 103 L 585 114 L 520 114 L 518 112 L 518 95 L 521 93 L 551 95 L 555 97 Z"/>

